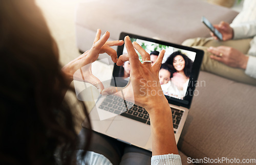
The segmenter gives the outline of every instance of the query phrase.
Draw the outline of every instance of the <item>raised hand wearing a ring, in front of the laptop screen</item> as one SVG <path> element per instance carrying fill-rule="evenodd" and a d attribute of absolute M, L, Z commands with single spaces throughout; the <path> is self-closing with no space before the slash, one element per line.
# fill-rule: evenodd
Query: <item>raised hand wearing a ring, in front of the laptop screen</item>
<path fill-rule="evenodd" d="M 120 56 L 117 65 L 122 65 L 127 60 L 130 61 L 130 82 L 124 88 L 106 88 L 102 91 L 102 95 L 115 94 L 122 97 L 122 91 L 126 100 L 129 101 L 129 99 L 134 97 L 135 104 L 144 107 L 148 113 L 151 113 L 152 104 L 158 104 L 159 102 L 167 103 L 158 76 L 165 51 L 162 50 L 160 52 L 153 66 L 149 62 L 142 64 L 134 48 L 140 53 L 143 61 L 150 61 L 150 55 L 137 42 L 132 43 L 129 36 L 126 36 L 124 41 L 129 55 Z"/>

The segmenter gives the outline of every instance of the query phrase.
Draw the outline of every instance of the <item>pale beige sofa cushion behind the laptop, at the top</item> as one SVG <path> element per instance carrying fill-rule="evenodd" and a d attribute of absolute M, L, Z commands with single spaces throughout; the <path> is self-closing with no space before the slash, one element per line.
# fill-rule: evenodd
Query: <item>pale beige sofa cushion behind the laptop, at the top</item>
<path fill-rule="evenodd" d="M 237 14 L 201 0 L 86 1 L 79 4 L 76 12 L 77 45 L 81 51 L 90 49 L 98 28 L 103 33 L 109 31 L 112 40 L 119 39 L 121 32 L 128 32 L 182 43 L 188 38 L 209 36 L 201 16 L 219 23 L 231 22 Z"/>

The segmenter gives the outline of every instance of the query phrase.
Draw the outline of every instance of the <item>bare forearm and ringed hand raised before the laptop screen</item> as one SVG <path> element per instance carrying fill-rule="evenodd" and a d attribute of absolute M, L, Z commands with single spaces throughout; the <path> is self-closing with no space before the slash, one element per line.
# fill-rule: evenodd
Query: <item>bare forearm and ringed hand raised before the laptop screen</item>
<path fill-rule="evenodd" d="M 164 50 L 162 50 L 153 66 L 151 63 L 141 63 L 138 54 L 142 56 L 142 61 L 150 61 L 150 55 L 144 51 L 136 42 L 131 42 L 128 36 L 124 39 L 129 59 L 127 56 L 119 57 L 117 64 L 122 65 L 123 61 L 130 61 L 130 80 L 125 88 L 108 88 L 102 91 L 102 95 L 115 94 L 124 98 L 131 98 L 133 91 L 135 104 L 146 109 L 150 114 L 152 131 L 152 153 L 154 155 L 178 154 L 176 146 L 172 111 L 163 95 L 159 82 L 159 69 L 162 64 Z M 121 91 L 122 90 L 122 93 Z M 116 93 L 115 93 L 116 92 Z M 178 160 L 180 161 L 180 159 Z"/>

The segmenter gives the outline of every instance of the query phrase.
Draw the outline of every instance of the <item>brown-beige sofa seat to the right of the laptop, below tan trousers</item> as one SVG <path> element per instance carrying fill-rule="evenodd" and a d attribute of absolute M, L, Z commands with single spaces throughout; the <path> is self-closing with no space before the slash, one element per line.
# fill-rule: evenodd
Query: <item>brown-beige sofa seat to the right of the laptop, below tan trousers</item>
<path fill-rule="evenodd" d="M 198 82 L 178 148 L 193 158 L 255 158 L 256 87 L 206 72 Z"/>

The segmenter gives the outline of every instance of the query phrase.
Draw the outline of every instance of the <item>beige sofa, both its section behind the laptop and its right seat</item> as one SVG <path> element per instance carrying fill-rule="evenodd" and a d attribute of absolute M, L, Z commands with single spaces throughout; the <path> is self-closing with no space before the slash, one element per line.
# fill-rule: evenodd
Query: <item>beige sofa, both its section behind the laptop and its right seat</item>
<path fill-rule="evenodd" d="M 87 1 L 76 12 L 77 46 L 80 51 L 90 49 L 98 28 L 108 30 L 112 40 L 124 31 L 181 43 L 209 36 L 202 15 L 218 23 L 231 22 L 237 14 L 199 0 Z M 178 143 L 183 164 L 190 158 L 255 158 L 256 86 L 201 72 L 196 90 Z"/>

